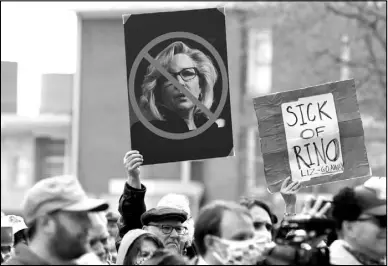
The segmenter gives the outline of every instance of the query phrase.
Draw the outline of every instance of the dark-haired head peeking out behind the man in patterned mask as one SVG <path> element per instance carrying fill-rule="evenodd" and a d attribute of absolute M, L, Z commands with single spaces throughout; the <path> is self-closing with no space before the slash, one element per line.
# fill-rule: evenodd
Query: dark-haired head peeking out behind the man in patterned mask
<path fill-rule="evenodd" d="M 274 225 L 278 218 L 264 202 L 257 199 L 243 198 L 240 205 L 246 207 L 253 219 L 253 226 L 257 237 L 268 237 L 272 239 Z"/>

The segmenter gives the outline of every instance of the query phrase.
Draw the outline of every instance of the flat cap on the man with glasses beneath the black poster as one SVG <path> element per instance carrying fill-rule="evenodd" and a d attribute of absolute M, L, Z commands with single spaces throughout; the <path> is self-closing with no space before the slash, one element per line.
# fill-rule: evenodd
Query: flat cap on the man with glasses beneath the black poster
<path fill-rule="evenodd" d="M 158 222 L 166 219 L 178 220 L 183 223 L 187 220 L 187 212 L 176 208 L 156 207 L 146 211 L 141 216 L 141 222 L 143 225 L 148 225 L 150 222 Z"/>

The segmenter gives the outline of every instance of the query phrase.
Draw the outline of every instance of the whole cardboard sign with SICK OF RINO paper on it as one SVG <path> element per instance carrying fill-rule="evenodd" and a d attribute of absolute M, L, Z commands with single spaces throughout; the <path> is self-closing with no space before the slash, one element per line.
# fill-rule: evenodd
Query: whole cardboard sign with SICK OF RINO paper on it
<path fill-rule="evenodd" d="M 254 99 L 270 192 L 371 176 L 354 80 Z"/>

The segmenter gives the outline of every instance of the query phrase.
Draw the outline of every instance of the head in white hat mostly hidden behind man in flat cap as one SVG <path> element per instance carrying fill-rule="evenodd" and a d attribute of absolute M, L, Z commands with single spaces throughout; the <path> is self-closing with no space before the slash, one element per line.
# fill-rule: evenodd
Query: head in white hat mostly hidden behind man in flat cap
<path fill-rule="evenodd" d="M 187 220 L 183 223 L 183 226 L 187 228 L 187 234 L 182 237 L 186 245 L 182 245 L 182 248 L 190 247 L 194 241 L 194 220 L 191 217 L 190 202 L 187 196 L 183 194 L 169 193 L 162 197 L 156 207 L 176 208 L 183 210 L 187 213 Z M 184 250 L 180 253 L 184 254 Z"/>

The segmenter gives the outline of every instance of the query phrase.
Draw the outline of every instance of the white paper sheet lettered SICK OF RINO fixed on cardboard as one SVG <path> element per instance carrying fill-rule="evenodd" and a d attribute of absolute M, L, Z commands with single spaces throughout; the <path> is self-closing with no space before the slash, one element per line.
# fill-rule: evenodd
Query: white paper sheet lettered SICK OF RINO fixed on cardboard
<path fill-rule="evenodd" d="M 313 177 L 343 172 L 341 143 L 333 94 L 283 103 L 282 115 L 291 177 Z"/>

